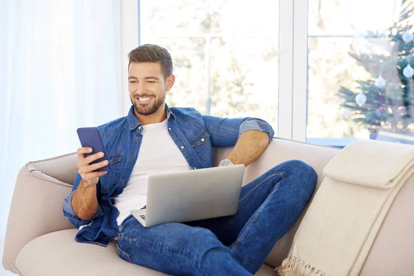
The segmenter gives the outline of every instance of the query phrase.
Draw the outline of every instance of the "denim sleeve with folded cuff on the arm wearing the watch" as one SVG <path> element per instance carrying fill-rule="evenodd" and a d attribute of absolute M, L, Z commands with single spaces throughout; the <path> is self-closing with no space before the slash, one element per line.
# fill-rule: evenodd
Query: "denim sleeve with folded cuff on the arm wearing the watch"
<path fill-rule="evenodd" d="M 269 135 L 269 142 L 275 135 L 272 126 L 258 118 L 221 118 L 203 115 L 204 126 L 210 135 L 213 147 L 235 146 L 240 135 L 248 130 L 259 130 Z"/>

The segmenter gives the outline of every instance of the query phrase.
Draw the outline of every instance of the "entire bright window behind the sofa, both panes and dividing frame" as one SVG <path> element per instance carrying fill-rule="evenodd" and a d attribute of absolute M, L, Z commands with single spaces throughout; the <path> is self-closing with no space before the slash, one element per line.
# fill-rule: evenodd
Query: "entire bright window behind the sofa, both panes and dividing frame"
<path fill-rule="evenodd" d="M 138 3 L 140 43 L 175 63 L 170 105 L 262 117 L 315 144 L 414 141 L 413 1 Z"/>

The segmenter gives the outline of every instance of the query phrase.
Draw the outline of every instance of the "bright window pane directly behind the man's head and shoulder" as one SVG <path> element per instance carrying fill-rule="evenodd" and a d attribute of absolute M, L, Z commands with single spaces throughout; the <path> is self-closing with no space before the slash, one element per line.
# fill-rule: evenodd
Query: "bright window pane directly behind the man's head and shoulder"
<path fill-rule="evenodd" d="M 140 43 L 163 46 L 175 66 L 168 105 L 260 117 L 277 132 L 278 15 L 278 1 L 139 1 Z"/>

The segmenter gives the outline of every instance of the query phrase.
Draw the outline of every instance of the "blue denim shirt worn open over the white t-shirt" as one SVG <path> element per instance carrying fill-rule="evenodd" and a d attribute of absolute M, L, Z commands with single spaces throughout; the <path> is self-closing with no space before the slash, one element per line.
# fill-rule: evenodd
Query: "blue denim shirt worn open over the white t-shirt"
<path fill-rule="evenodd" d="M 275 132 L 261 119 L 225 119 L 201 115 L 194 108 L 168 108 L 167 125 L 172 140 L 181 150 L 190 168 L 214 166 L 213 147 L 235 146 L 237 139 L 247 130 L 260 130 L 268 133 L 269 141 Z M 134 115 L 131 106 L 128 116 L 99 126 L 99 132 L 110 162 L 110 172 L 99 177 L 97 184 L 98 210 L 90 219 L 79 219 L 72 209 L 72 195 L 79 186 L 78 174 L 72 193 L 63 202 L 63 214 L 70 222 L 81 229 L 77 242 L 108 245 L 117 236 L 119 212 L 113 205 L 115 197 L 122 193 L 137 160 L 145 126 Z"/>

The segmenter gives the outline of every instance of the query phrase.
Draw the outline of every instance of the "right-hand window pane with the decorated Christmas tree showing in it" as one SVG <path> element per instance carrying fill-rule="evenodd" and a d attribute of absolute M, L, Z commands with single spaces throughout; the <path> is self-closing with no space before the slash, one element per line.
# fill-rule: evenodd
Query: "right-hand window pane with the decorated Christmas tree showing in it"
<path fill-rule="evenodd" d="M 308 0 L 307 141 L 413 144 L 412 9 L 405 0 Z"/>

